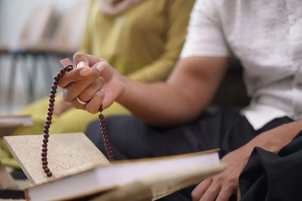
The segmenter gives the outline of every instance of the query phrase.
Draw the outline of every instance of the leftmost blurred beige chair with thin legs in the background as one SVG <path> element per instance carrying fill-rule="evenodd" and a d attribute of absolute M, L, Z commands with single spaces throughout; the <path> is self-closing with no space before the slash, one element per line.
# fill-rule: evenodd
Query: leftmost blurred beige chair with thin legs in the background
<path fill-rule="evenodd" d="M 42 40 L 51 37 L 52 29 L 55 22 L 55 8 L 53 5 L 43 5 L 34 8 L 23 25 L 21 33 L 18 37 L 17 43 L 8 48 L 9 54 L 12 57 L 12 63 L 10 68 L 9 78 L 9 94 L 8 104 L 12 103 L 14 94 L 14 85 L 17 72 L 17 61 L 21 57 L 22 62 L 22 75 L 24 80 L 28 81 L 28 94 L 29 98 L 33 97 L 33 80 L 31 72 L 27 70 L 27 66 L 24 67 L 27 61 L 28 52 L 27 44 L 39 44 Z M 36 62 L 36 58 L 34 58 Z"/>

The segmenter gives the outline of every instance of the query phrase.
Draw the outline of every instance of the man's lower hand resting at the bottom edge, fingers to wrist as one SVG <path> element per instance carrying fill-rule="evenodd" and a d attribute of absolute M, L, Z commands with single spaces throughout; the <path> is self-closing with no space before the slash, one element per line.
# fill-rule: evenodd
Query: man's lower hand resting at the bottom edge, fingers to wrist
<path fill-rule="evenodd" d="M 228 201 L 232 194 L 237 194 L 240 200 L 239 175 L 248 162 L 249 155 L 250 153 L 245 154 L 239 149 L 225 155 L 220 161 L 228 164 L 228 167 L 199 183 L 192 191 L 193 200 Z"/>

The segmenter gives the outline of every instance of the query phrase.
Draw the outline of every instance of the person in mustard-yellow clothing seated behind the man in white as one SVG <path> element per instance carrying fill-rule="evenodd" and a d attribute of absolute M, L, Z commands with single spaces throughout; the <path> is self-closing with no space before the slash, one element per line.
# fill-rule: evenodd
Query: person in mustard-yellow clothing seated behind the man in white
<path fill-rule="evenodd" d="M 166 80 L 185 41 L 194 2 L 195 0 L 91 0 L 80 50 L 105 58 L 119 73 L 133 80 Z M 50 133 L 85 132 L 88 124 L 98 119 L 97 114 L 76 110 L 71 104 L 60 100 L 60 95 L 56 97 L 56 116 Z M 12 135 L 41 134 L 48 99 L 49 97 L 45 97 L 38 100 L 21 111 L 20 115 L 32 116 L 34 126 L 20 128 Z M 104 114 L 129 114 L 129 111 L 114 103 Z M 8 155 L 4 144 L 2 148 Z M 19 167 L 12 156 L 0 159 L 6 165 Z"/>

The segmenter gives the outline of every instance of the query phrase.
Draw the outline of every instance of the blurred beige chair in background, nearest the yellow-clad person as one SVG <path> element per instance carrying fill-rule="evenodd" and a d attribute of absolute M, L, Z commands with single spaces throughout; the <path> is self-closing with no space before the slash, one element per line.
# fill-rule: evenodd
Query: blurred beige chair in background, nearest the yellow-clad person
<path fill-rule="evenodd" d="M 62 16 L 59 18 L 58 26 L 56 27 L 52 38 L 43 37 L 38 42 L 22 40 L 18 51 L 15 51 L 15 53 L 19 55 L 31 55 L 34 57 L 34 63 L 29 78 L 29 103 L 33 101 L 35 91 L 34 86 L 36 86 L 33 81 L 36 80 L 38 71 L 36 62 L 37 57 L 42 57 L 45 61 L 45 68 L 41 70 L 45 72 L 43 80 L 45 80 L 46 86 L 50 86 L 53 81 L 53 75 L 51 67 L 49 66 L 48 56 L 55 55 L 60 58 L 72 57 L 72 55 L 78 51 L 86 26 L 88 10 L 89 0 L 75 3 L 70 9 L 63 12 Z M 37 29 L 37 27 L 35 29 Z M 10 86 L 13 87 L 13 85 Z M 9 93 L 12 93 L 12 90 L 9 90 Z M 8 98 L 8 102 L 11 101 L 12 94 L 10 94 Z"/>

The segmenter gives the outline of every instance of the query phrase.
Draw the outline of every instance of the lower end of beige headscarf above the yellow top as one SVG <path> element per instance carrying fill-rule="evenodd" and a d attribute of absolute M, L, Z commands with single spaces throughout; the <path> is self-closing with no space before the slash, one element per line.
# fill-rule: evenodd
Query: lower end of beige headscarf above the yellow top
<path fill-rule="evenodd" d="M 143 0 L 98 0 L 99 7 L 105 15 L 116 15 Z"/>

